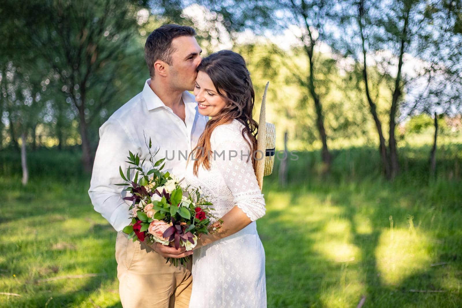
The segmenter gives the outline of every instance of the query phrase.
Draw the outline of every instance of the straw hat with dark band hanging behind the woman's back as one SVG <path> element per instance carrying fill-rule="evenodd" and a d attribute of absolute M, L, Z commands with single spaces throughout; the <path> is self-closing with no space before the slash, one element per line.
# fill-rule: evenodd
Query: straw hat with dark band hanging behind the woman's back
<path fill-rule="evenodd" d="M 263 99 L 261 101 L 260 120 L 258 121 L 257 134 L 257 167 L 256 175 L 258 186 L 263 187 L 263 176 L 270 175 L 273 172 L 274 153 L 276 145 L 276 128 L 274 124 L 266 121 L 266 92 L 268 90 L 269 81 L 266 84 Z M 263 157 L 263 155 L 265 157 Z"/>

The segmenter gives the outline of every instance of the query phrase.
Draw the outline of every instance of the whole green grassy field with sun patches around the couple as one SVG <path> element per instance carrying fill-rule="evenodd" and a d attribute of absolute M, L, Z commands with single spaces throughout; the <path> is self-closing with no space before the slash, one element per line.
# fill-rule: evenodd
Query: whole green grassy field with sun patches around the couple
<path fill-rule="evenodd" d="M 290 162 L 288 187 L 268 177 L 257 223 L 268 307 L 356 307 L 362 296 L 364 307 L 462 307 L 462 145 L 438 153 L 436 179 L 428 152 L 401 149 L 393 182 L 369 148 L 334 152 L 327 177 L 317 152 Z M 120 307 L 116 233 L 93 211 L 79 155 L 40 150 L 29 163 L 23 187 L 18 155 L 0 153 L 0 292 L 20 295 L 0 306 Z"/>

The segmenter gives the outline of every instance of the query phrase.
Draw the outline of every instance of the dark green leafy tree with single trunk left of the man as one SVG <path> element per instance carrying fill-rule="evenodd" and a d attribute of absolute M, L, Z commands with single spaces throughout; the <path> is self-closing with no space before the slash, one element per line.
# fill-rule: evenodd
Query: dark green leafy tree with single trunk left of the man
<path fill-rule="evenodd" d="M 92 167 L 89 127 L 132 84 L 121 82 L 129 76 L 115 76 L 121 64 L 140 54 L 130 47 L 139 35 L 141 8 L 125 0 L 46 0 L 16 8 L 25 42 L 58 75 L 56 86 L 77 115 L 86 171 Z"/>

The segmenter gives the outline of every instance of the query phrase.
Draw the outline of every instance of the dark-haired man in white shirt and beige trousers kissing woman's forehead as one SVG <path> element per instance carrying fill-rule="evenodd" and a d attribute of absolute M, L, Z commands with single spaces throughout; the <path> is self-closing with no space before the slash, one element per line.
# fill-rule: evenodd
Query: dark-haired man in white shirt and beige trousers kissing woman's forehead
<path fill-rule="evenodd" d="M 143 91 L 118 109 L 100 127 L 91 185 L 88 193 L 97 212 L 118 231 L 116 240 L 117 278 L 123 307 L 186 308 L 191 294 L 191 267 L 173 266 L 164 257 L 181 258 L 191 254 L 155 243 L 128 240 L 122 233 L 130 223 L 129 204 L 122 198 L 119 166 L 125 170 L 128 151 L 149 152 L 145 137 L 152 139 L 156 160 L 165 160 L 164 171 L 182 180 L 188 153 L 201 135 L 207 119 L 197 111 L 194 90 L 201 48 L 190 27 L 167 24 L 154 30 L 146 40 L 145 55 L 151 79 Z M 171 159 L 174 155 L 174 159 Z"/>

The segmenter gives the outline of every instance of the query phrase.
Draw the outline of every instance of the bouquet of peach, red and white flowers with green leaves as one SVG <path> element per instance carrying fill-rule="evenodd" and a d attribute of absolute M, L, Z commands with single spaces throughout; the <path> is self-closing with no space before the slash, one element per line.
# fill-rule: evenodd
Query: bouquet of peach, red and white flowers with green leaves
<path fill-rule="evenodd" d="M 210 232 L 208 225 L 211 218 L 219 224 L 222 221 L 211 214 L 214 210 L 212 203 L 201 196 L 200 188 L 182 188 L 174 175 L 163 172 L 165 158 L 154 162 L 151 139 L 147 146 L 151 156 L 150 170 L 145 173 L 142 168 L 145 161 L 140 164 L 139 155 L 134 155 L 131 151 L 127 157 L 127 163 L 131 166 L 125 174 L 122 167 L 119 167 L 120 175 L 126 182 L 116 185 L 128 186 L 124 191 L 128 191 L 131 196 L 124 199 L 132 201 L 132 223 L 123 232 L 133 241 L 140 240 L 147 244 L 159 242 L 164 245 L 172 243 L 176 249 L 184 246 L 186 250 L 191 250 L 201 234 Z M 136 171 L 133 180 L 130 180 L 130 170 Z M 167 262 L 170 261 L 175 266 L 178 260 L 185 266 L 189 258 L 167 258 Z"/>

